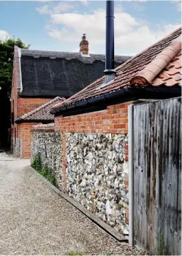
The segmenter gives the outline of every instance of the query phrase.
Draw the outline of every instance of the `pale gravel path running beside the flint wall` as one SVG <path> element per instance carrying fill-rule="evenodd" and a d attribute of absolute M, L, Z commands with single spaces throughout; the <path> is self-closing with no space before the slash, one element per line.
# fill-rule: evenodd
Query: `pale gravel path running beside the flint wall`
<path fill-rule="evenodd" d="M 29 164 L 0 153 L 0 255 L 145 255 L 115 241 Z"/>

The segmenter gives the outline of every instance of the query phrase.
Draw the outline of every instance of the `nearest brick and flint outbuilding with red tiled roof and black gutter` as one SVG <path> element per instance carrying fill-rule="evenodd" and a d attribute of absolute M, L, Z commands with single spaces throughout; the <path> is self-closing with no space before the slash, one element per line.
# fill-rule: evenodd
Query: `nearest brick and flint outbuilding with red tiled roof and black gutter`
<path fill-rule="evenodd" d="M 117 67 L 110 82 L 103 76 L 56 104 L 61 189 L 128 235 L 128 106 L 179 96 L 181 28 Z"/>

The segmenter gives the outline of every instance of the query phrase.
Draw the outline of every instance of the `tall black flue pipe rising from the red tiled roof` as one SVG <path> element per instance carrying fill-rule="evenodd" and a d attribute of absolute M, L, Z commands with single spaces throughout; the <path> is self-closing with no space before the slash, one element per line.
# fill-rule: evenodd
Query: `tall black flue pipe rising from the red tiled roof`
<path fill-rule="evenodd" d="M 114 1 L 106 1 L 105 83 L 115 78 L 114 70 Z"/>

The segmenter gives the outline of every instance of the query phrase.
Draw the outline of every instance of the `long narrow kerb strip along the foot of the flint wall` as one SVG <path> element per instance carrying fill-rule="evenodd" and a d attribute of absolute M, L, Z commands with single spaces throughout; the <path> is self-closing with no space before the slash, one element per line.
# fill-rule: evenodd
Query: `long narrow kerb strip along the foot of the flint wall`
<path fill-rule="evenodd" d="M 77 203 L 75 200 L 73 200 L 71 197 L 69 197 L 67 194 L 64 194 L 63 192 L 59 191 L 53 184 L 50 183 L 45 177 L 43 177 L 41 174 L 37 172 L 37 170 L 34 170 L 33 167 L 29 166 L 29 169 L 32 170 L 36 175 L 42 179 L 42 181 L 45 182 L 45 184 L 50 187 L 50 189 L 53 189 L 54 192 L 56 192 L 58 195 L 61 195 L 65 200 L 67 200 L 69 203 L 72 204 L 72 206 L 75 206 L 79 211 L 81 211 L 88 219 L 91 219 L 96 225 L 102 228 L 102 230 L 105 230 L 110 236 L 113 236 L 117 241 L 119 242 L 128 242 L 128 239 L 122 236 L 120 233 L 118 233 L 116 230 L 114 230 L 112 227 L 107 225 L 105 222 L 103 222 L 101 219 L 96 217 L 94 214 L 92 214 L 90 211 L 88 211 L 84 206 L 82 206 L 80 203 Z"/>

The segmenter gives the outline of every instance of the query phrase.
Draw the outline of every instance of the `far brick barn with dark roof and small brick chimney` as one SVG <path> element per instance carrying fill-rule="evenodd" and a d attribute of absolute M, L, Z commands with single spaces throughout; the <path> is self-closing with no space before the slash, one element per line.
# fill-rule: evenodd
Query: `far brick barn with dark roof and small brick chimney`
<path fill-rule="evenodd" d="M 127 56 L 115 56 L 115 67 L 127 59 Z M 80 53 L 25 50 L 15 45 L 11 94 L 12 152 L 18 157 L 30 157 L 28 149 L 26 154 L 21 151 L 27 144 L 20 135 L 20 126 L 24 124 L 21 117 L 25 113 L 55 97 L 71 97 L 101 77 L 104 68 L 105 55 L 88 52 L 86 34 L 80 42 Z M 24 127 L 29 138 L 27 127 L 31 127 L 31 123 Z"/>

